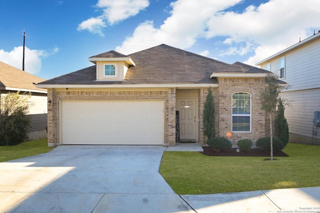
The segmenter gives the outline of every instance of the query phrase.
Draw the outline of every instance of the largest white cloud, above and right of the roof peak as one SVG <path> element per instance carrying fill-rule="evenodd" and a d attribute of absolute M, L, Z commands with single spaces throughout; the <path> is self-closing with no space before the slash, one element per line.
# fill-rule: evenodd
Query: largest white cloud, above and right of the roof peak
<path fill-rule="evenodd" d="M 242 2 L 176 0 L 170 3 L 171 15 L 162 25 L 155 28 L 152 20 L 140 23 L 116 50 L 127 54 L 160 43 L 188 48 L 199 38 L 224 37 L 220 43 L 229 47 L 218 51 L 220 56 L 245 56 L 254 52 L 244 61 L 254 65 L 298 42 L 299 37 L 312 35 L 313 28 L 320 29 L 319 0 L 270 0 L 258 6 L 250 5 L 241 12 L 224 11 Z"/>

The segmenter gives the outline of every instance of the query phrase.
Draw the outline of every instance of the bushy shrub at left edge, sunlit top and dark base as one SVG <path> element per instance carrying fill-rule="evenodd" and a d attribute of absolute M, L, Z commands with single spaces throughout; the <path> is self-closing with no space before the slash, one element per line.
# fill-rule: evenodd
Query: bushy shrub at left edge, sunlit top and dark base
<path fill-rule="evenodd" d="M 0 106 L 0 145 L 15 145 L 27 139 L 30 125 L 28 113 L 31 102 L 29 94 L 9 92 L 1 98 Z"/>

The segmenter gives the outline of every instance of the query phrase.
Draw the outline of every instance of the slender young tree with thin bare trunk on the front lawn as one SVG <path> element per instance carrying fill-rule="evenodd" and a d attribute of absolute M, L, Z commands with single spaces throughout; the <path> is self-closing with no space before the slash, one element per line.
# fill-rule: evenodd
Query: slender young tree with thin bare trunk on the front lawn
<path fill-rule="evenodd" d="M 270 118 L 270 160 L 273 160 L 273 148 L 272 148 L 272 113 L 275 112 L 275 108 L 278 102 L 278 96 L 282 90 L 277 82 L 278 77 L 270 72 L 264 78 L 265 88 L 260 90 L 260 108 L 269 114 Z"/>

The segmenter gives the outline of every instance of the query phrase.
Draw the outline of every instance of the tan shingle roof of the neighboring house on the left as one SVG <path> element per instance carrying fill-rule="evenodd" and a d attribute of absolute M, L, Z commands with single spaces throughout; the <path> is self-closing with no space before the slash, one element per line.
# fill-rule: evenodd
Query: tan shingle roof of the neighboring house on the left
<path fill-rule="evenodd" d="M 46 91 L 44 88 L 37 88 L 35 84 L 45 79 L 37 77 L 26 71 L 10 66 L 0 61 L 0 87 L 12 87 L 24 90 L 41 90 Z"/>

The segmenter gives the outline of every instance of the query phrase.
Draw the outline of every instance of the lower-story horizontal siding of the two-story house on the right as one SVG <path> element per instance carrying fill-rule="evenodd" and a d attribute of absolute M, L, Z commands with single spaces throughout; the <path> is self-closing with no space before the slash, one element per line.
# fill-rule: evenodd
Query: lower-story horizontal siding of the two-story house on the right
<path fill-rule="evenodd" d="M 281 97 L 291 104 L 284 112 L 289 132 L 320 138 L 320 126 L 313 126 L 313 113 L 320 111 L 320 88 L 282 92 Z M 317 128 L 318 135 L 312 135 L 314 128 Z"/>

